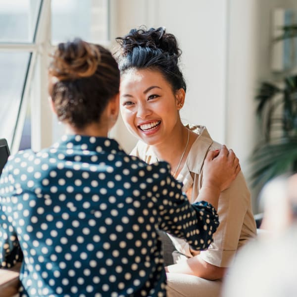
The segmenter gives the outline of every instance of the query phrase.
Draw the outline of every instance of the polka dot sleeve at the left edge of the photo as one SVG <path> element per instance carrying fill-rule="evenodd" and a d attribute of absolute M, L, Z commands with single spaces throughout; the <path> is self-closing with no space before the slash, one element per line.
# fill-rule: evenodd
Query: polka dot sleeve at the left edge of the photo
<path fill-rule="evenodd" d="M 12 224 L 14 197 L 10 197 L 13 186 L 10 185 L 7 167 L 4 167 L 0 178 L 0 268 L 10 268 L 23 258 Z"/>

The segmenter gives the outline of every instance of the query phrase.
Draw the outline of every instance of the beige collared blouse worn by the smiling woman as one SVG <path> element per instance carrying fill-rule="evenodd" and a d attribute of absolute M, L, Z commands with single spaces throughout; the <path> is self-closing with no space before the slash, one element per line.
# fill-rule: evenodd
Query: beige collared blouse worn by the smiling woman
<path fill-rule="evenodd" d="M 205 127 L 187 125 L 187 128 L 197 133 L 198 138 L 192 145 L 177 180 L 183 182 L 183 191 L 187 193 L 190 201 L 194 202 L 203 183 L 205 156 L 208 150 L 220 148 L 221 145 L 210 138 Z M 152 148 L 142 141 L 137 143 L 131 154 L 149 164 L 157 162 Z M 237 249 L 256 235 L 250 193 L 242 172 L 239 173 L 229 189 L 221 193 L 218 214 L 220 226 L 213 236 L 213 243 L 200 254 L 204 261 L 212 265 L 229 267 Z M 193 256 L 186 241 L 173 236 L 170 238 L 179 252 L 188 257 Z"/>

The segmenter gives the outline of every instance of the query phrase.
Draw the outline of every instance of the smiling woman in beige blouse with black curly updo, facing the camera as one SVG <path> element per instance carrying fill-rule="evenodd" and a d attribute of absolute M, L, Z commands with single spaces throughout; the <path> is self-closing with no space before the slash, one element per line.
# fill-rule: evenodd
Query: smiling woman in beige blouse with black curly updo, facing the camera
<path fill-rule="evenodd" d="M 186 84 L 179 69 L 177 41 L 164 28 L 132 29 L 117 40 L 121 45 L 121 114 L 129 131 L 139 139 L 131 154 L 149 164 L 167 161 L 171 174 L 183 183 L 183 191 L 193 202 L 207 177 L 205 156 L 220 145 L 205 127 L 184 126 L 181 121 Z M 229 153 L 234 154 L 232 150 Z M 186 242 L 169 235 L 174 255 L 182 259 L 166 267 L 169 297 L 197 296 L 197 292 L 201 297 L 219 296 L 226 267 L 237 249 L 255 236 L 250 195 L 242 174 L 221 194 L 218 212 L 220 227 L 206 251 L 196 253 Z M 199 235 L 197 239 L 201 240 Z"/>

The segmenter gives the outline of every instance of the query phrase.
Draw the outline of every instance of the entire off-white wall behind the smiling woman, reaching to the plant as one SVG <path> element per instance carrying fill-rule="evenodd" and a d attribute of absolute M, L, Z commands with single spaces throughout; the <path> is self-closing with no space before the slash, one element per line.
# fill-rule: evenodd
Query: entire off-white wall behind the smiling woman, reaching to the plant
<path fill-rule="evenodd" d="M 117 11 L 112 34 L 142 24 L 165 26 L 183 50 L 188 91 L 185 121 L 205 125 L 212 138 L 233 148 L 246 177 L 260 138 L 254 99 L 271 72 L 271 13 L 297 9 L 296 0 L 112 0 Z M 120 123 L 114 134 L 129 150 L 135 140 Z M 251 188 L 251 187 L 250 187 Z M 254 211 L 259 189 L 251 189 Z"/>

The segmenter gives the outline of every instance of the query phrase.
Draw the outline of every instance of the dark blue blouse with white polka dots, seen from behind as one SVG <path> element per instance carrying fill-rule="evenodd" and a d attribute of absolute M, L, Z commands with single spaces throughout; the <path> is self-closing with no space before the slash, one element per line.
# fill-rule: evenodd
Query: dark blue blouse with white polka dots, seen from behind
<path fill-rule="evenodd" d="M 22 296 L 165 296 L 157 229 L 205 249 L 218 226 L 181 188 L 108 138 L 19 152 L 0 178 L 0 266 L 23 262 Z"/>

